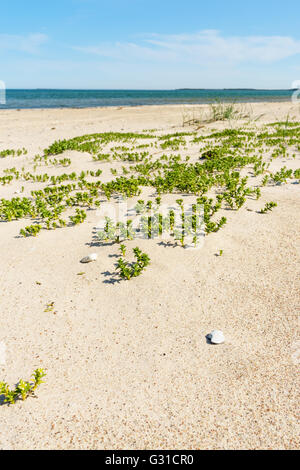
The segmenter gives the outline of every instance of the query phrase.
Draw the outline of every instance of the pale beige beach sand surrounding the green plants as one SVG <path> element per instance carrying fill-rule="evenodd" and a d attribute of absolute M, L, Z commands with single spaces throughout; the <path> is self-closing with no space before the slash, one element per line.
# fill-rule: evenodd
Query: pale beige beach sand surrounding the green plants
<path fill-rule="evenodd" d="M 296 104 L 244 106 L 257 126 L 287 114 L 300 120 Z M 0 150 L 24 146 L 29 153 L 0 158 L 0 174 L 31 168 L 32 157 L 57 139 L 180 131 L 192 109 L 2 110 Z M 239 123 L 203 132 L 225 125 Z M 99 165 L 67 155 L 76 171 Z M 300 153 L 274 165 L 299 168 Z M 62 169 L 38 169 L 45 171 Z M 0 198 L 20 186 L 0 185 Z M 24 186 L 29 192 L 39 184 Z M 24 221 L 0 222 L 0 381 L 13 385 L 47 369 L 38 398 L 0 406 L 0 448 L 299 448 L 299 195 L 300 185 L 290 183 L 263 188 L 259 201 L 227 211 L 226 227 L 200 250 L 139 241 L 151 266 L 120 283 L 107 282 L 117 247 L 89 246 L 96 212 L 78 227 L 28 239 L 17 237 Z M 257 214 L 270 200 L 278 207 Z M 220 249 L 223 256 L 215 256 Z M 90 252 L 97 262 L 81 265 Z M 53 312 L 45 312 L 49 302 Z M 212 346 L 205 335 L 216 328 L 226 342 Z"/>

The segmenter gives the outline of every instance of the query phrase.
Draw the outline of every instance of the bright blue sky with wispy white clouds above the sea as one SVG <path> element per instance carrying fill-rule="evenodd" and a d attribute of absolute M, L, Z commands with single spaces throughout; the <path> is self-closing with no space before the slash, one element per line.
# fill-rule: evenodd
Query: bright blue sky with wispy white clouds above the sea
<path fill-rule="evenodd" d="M 299 0 L 11 0 L 0 8 L 7 88 L 289 89 Z"/>

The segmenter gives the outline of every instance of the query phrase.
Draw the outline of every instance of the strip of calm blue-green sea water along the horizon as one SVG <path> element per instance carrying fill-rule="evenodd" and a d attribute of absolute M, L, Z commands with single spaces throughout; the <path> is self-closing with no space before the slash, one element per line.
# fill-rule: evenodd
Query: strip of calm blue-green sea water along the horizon
<path fill-rule="evenodd" d="M 0 109 L 288 101 L 291 90 L 7 90 Z"/>

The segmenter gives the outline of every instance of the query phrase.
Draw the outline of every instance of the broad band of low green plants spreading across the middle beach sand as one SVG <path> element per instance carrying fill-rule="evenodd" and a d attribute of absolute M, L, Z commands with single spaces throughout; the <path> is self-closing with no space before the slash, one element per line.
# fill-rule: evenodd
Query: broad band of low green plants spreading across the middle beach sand
<path fill-rule="evenodd" d="M 224 120 L 237 116 L 238 108 L 232 104 L 211 105 L 214 119 Z M 199 160 L 191 161 L 189 156 L 180 155 L 187 145 L 199 152 Z M 204 209 L 204 230 L 207 234 L 220 230 L 226 224 L 226 217 L 217 218 L 224 209 L 239 210 L 248 198 L 259 199 L 261 188 L 267 185 L 287 183 L 300 178 L 300 170 L 283 166 L 277 172 L 270 172 L 269 166 L 275 158 L 294 158 L 300 149 L 300 123 L 272 123 L 260 129 L 237 128 L 215 131 L 206 135 L 197 132 L 175 132 L 155 135 L 153 131 L 143 133 L 98 133 L 56 141 L 45 149 L 43 155 L 33 158 L 34 171 L 25 168 L 8 168 L 0 176 L 0 184 L 10 185 L 13 181 L 40 183 L 42 189 L 30 191 L 30 195 L 0 199 L 0 220 L 31 220 L 20 230 L 24 237 L 37 236 L 42 229 L 54 230 L 83 223 L 88 211 L 97 209 L 105 200 L 116 196 L 132 198 L 139 196 L 145 187 L 150 187 L 157 198 L 164 194 L 182 194 L 195 197 L 194 203 Z M 66 150 L 79 151 L 90 155 L 94 165 L 101 165 L 93 171 L 62 173 L 49 176 L 36 173 L 36 165 L 70 166 L 71 158 L 62 154 Z M 21 155 L 26 150 L 3 150 L 0 155 Z M 123 162 L 122 176 L 110 168 L 113 179 L 103 183 L 100 179 L 110 161 Z M 119 172 L 120 173 L 120 172 Z M 251 186 L 252 177 L 261 177 L 260 184 Z M 107 181 L 107 180 L 106 180 Z M 22 191 L 24 192 L 24 186 Z M 210 194 L 208 196 L 208 194 Z M 215 196 L 213 196 L 215 194 Z M 178 197 L 177 196 L 177 197 Z M 158 204 L 159 206 L 159 204 Z M 152 238 L 170 230 L 172 211 L 163 215 L 151 208 L 154 214 L 138 208 L 142 220 L 142 232 Z M 71 212 L 71 213 L 70 213 Z M 66 216 L 64 215 L 65 213 Z M 194 218 L 199 213 L 193 214 Z M 171 222 L 170 222 L 171 219 Z M 195 223 L 185 219 L 186 232 L 179 233 L 171 227 L 176 240 L 184 246 L 184 238 L 191 235 Z M 132 226 L 106 221 L 102 240 L 120 242 L 132 239 Z"/>

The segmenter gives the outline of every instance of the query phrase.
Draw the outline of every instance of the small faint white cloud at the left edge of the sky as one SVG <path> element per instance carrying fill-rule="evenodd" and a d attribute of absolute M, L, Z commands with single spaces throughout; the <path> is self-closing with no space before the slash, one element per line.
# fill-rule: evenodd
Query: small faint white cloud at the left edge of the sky
<path fill-rule="evenodd" d="M 0 34 L 0 52 L 21 51 L 37 54 L 40 46 L 47 40 L 48 36 L 41 33 L 28 34 L 27 36 Z"/>

